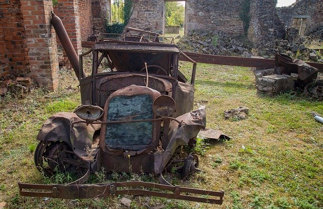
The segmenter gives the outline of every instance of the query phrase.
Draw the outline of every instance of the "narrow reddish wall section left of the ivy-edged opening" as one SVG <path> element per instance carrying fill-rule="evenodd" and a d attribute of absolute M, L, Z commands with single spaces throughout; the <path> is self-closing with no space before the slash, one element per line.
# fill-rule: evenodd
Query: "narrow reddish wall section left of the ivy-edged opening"
<path fill-rule="evenodd" d="M 105 23 L 111 21 L 111 1 L 110 0 L 92 0 L 92 23 L 95 28 L 95 34 L 105 33 Z"/>

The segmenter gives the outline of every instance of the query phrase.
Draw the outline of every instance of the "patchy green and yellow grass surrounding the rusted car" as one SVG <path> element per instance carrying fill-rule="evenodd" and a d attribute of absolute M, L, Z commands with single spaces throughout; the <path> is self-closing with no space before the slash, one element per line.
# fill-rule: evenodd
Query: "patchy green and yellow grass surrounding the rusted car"
<path fill-rule="evenodd" d="M 180 66 L 189 74 L 185 62 Z M 67 90 L 63 82 L 58 92 L 35 90 L 23 99 L 1 99 L 0 202 L 8 202 L 10 208 L 122 207 L 121 197 L 61 200 L 19 195 L 15 181 L 48 183 L 66 178 L 44 178 L 34 166 L 32 153 L 42 122 L 57 111 L 73 111 L 80 103 L 74 75 L 62 75 L 75 90 Z M 48 94 L 55 97 L 44 99 Z M 323 114 L 322 102 L 310 101 L 302 93 L 257 95 L 249 68 L 198 64 L 195 107 L 199 105 L 206 105 L 207 126 L 222 130 L 231 140 L 199 140 L 195 149 L 203 153 L 199 165 L 204 172 L 189 181 L 173 174 L 166 178 L 182 186 L 224 190 L 223 205 L 127 196 L 133 208 L 323 208 L 323 125 L 310 115 L 312 111 Z M 238 106 L 249 108 L 248 118 L 225 120 L 224 110 Z M 149 180 L 129 174 L 114 174 L 113 178 Z M 98 173 L 90 181 L 102 179 Z"/>

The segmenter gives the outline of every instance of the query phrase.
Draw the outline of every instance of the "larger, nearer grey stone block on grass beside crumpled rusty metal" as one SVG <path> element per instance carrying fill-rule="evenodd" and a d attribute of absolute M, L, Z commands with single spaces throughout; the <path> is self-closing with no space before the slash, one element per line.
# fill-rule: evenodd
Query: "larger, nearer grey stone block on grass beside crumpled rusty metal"
<path fill-rule="evenodd" d="M 270 75 L 263 76 L 256 80 L 256 88 L 258 93 L 275 95 L 281 92 L 294 90 L 295 81 L 288 75 Z"/>

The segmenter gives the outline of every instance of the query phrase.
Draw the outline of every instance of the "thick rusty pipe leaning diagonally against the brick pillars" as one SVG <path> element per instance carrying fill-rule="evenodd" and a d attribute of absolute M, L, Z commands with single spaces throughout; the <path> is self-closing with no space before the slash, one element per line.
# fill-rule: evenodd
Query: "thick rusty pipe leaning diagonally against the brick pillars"
<path fill-rule="evenodd" d="M 82 77 L 80 77 L 80 62 L 79 57 L 72 45 L 72 42 L 67 34 L 65 27 L 62 23 L 62 20 L 51 12 L 51 24 L 54 27 L 57 36 L 59 37 L 64 51 L 66 52 L 67 57 L 69 58 L 77 79 L 80 81 L 81 78 L 86 77 L 85 72 L 82 71 Z"/>

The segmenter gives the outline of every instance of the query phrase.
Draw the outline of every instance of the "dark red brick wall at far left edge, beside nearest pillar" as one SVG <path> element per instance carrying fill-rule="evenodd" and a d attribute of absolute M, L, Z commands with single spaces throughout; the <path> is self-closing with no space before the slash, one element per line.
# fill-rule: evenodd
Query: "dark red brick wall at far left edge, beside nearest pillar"
<path fill-rule="evenodd" d="M 24 22 L 18 0 L 0 2 L 0 77 L 29 72 Z"/>

